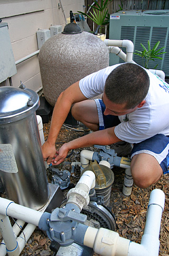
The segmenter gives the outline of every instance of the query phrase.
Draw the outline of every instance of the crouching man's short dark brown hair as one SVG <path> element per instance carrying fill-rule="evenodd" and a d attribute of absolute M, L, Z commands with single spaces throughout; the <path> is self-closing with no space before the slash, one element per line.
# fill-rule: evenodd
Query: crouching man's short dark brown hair
<path fill-rule="evenodd" d="M 145 99 L 149 89 L 149 76 L 143 67 L 134 63 L 117 66 L 108 75 L 105 83 L 106 97 L 116 104 L 126 103 L 126 108 L 135 108 Z"/>

